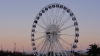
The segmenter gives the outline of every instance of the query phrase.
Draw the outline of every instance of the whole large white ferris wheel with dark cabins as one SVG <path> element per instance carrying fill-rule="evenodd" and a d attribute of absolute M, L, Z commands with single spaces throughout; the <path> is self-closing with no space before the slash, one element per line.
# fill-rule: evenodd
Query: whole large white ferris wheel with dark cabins
<path fill-rule="evenodd" d="M 77 48 L 78 22 L 74 13 L 61 4 L 49 4 L 37 14 L 31 42 L 37 56 L 67 56 Z"/>

